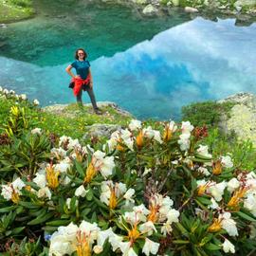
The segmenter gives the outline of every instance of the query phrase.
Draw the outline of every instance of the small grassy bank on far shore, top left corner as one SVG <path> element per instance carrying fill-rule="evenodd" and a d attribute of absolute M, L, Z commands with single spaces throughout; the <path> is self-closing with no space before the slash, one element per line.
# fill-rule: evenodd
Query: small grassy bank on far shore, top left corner
<path fill-rule="evenodd" d="M 27 19 L 33 14 L 32 0 L 0 0 L 0 23 Z"/>

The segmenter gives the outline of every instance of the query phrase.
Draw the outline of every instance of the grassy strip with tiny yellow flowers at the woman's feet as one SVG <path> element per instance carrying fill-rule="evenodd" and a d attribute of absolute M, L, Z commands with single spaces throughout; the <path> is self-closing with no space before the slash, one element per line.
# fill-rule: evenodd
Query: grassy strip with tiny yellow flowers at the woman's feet
<path fill-rule="evenodd" d="M 9 117 L 9 109 L 15 101 L 0 98 L 0 123 L 4 124 Z M 93 113 L 91 107 L 82 109 L 76 104 L 68 105 L 61 114 L 52 114 L 44 112 L 41 108 L 32 107 L 28 101 L 19 101 L 21 106 L 26 109 L 26 116 L 33 120 L 33 126 L 44 129 L 47 133 L 53 133 L 57 136 L 69 136 L 73 138 L 82 138 L 86 133 L 86 126 L 94 123 L 119 124 L 126 126 L 129 123 L 129 117 L 121 116 L 117 110 L 111 107 L 102 107 L 102 115 Z M 1 125 L 0 125 L 1 129 Z M 3 128 L 2 128 L 3 130 Z M 0 131 L 1 132 L 1 131 Z M 3 131 L 2 131 L 3 132 Z"/>

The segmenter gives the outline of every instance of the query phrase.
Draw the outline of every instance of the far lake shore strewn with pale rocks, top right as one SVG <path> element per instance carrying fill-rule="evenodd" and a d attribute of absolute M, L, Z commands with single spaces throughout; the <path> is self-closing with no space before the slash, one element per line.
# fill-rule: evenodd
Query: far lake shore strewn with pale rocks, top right
<path fill-rule="evenodd" d="M 129 5 L 142 16 L 157 17 L 172 15 L 174 10 L 183 9 L 192 18 L 202 16 L 210 20 L 235 18 L 237 26 L 247 26 L 256 21 L 256 0 L 101 0 L 102 2 Z"/>

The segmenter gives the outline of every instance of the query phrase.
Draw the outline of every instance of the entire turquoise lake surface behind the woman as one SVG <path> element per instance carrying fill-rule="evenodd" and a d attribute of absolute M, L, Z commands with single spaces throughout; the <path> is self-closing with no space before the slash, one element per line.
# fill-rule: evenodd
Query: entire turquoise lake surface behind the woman
<path fill-rule="evenodd" d="M 97 101 L 115 101 L 137 119 L 179 119 L 188 103 L 256 93 L 256 24 L 67 3 L 38 1 L 35 18 L 0 27 L 0 85 L 43 106 L 75 102 L 64 69 L 84 47 Z"/>

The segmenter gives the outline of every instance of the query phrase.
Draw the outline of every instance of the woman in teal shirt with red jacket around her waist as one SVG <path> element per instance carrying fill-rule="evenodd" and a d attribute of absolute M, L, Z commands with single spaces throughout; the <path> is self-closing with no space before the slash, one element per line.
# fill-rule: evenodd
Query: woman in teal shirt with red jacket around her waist
<path fill-rule="evenodd" d="M 73 91 L 74 95 L 77 97 L 77 102 L 82 106 L 82 90 L 86 91 L 91 99 L 94 112 L 98 115 L 101 114 L 99 107 L 97 106 L 94 92 L 93 92 L 93 80 L 90 69 L 90 63 L 86 60 L 87 53 L 84 49 L 79 48 L 75 53 L 75 61 L 69 64 L 65 71 L 72 77 L 74 83 Z M 74 67 L 76 69 L 77 75 L 75 76 L 71 69 Z"/>

